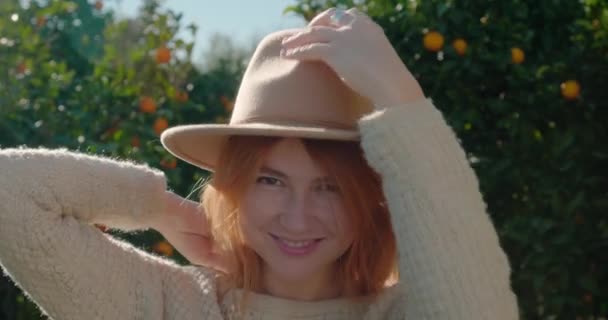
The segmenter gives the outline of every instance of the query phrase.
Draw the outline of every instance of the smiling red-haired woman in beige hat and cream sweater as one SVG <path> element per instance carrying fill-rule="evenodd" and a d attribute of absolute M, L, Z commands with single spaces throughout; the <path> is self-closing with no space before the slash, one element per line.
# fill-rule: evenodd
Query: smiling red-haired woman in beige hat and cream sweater
<path fill-rule="evenodd" d="M 355 9 L 265 37 L 229 124 L 161 136 L 213 171 L 0 150 L 0 263 L 54 319 L 517 319 L 477 178 L 382 29 Z M 155 228 L 178 266 L 99 232 Z"/>

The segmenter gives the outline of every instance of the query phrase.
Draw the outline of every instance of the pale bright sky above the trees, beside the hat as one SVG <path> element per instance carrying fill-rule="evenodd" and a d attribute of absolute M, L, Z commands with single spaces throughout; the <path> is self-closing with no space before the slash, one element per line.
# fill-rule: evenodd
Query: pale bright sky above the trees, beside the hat
<path fill-rule="evenodd" d="M 137 15 L 141 0 L 106 0 L 119 17 Z M 302 27 L 304 19 L 293 13 L 283 15 L 283 9 L 295 0 L 166 0 L 163 7 L 183 13 L 182 26 L 194 22 L 199 28 L 195 39 L 194 55 L 197 59 L 207 49 L 210 36 L 215 32 L 230 35 L 236 43 L 249 45 L 272 31 Z M 188 31 L 181 37 L 191 40 Z"/>

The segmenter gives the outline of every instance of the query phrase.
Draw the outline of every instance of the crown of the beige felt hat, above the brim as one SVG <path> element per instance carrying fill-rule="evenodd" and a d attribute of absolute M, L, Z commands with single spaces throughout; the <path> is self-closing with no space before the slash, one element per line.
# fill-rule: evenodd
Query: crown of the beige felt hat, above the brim
<path fill-rule="evenodd" d="M 265 123 L 355 130 L 372 110 L 331 67 L 280 57 L 281 41 L 301 29 L 267 35 L 241 81 L 230 124 Z"/>

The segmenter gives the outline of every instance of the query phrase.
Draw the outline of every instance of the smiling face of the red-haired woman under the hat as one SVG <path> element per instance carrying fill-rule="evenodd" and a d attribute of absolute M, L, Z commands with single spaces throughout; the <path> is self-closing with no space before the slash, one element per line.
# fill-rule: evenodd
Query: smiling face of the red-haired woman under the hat
<path fill-rule="evenodd" d="M 265 159 L 241 204 L 247 244 L 267 274 L 297 281 L 331 274 L 353 241 L 340 191 L 299 139 L 283 139 Z"/>

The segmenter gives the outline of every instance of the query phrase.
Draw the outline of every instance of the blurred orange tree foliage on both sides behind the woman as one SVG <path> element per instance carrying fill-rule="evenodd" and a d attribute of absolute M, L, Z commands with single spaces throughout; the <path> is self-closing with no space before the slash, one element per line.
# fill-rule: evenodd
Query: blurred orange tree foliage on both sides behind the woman
<path fill-rule="evenodd" d="M 106 0 L 110 1 L 110 0 Z M 68 147 L 145 162 L 192 194 L 206 173 L 160 144 L 168 126 L 225 123 L 251 50 L 217 37 L 205 63 L 181 15 L 146 0 L 0 2 L 0 147 Z M 261 5 L 261 4 L 260 4 Z M 608 317 L 608 1 L 299 0 L 310 20 L 357 6 L 453 126 L 513 268 L 522 319 Z M 188 263 L 149 231 L 112 233 Z M 41 315 L 8 278 L 0 319 Z"/>

